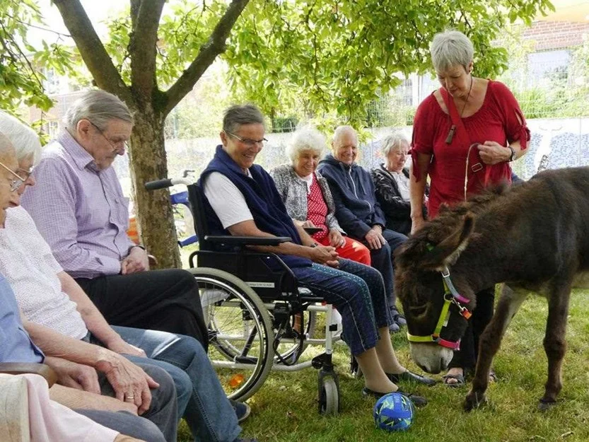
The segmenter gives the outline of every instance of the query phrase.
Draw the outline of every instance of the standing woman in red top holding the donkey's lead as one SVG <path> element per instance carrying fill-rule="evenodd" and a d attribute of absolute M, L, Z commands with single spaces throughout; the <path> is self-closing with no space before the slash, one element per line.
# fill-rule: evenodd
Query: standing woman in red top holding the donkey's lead
<path fill-rule="evenodd" d="M 436 217 L 441 203 L 456 204 L 484 187 L 511 182 L 509 163 L 525 153 L 530 131 L 518 102 L 498 81 L 472 76 L 474 49 L 455 30 L 436 34 L 431 60 L 441 88 L 417 108 L 412 139 L 409 182 L 412 232 L 424 223 L 421 203 L 430 178 L 428 216 Z M 444 382 L 465 383 L 465 371 L 476 365 L 479 335 L 493 315 L 494 287 L 477 293 L 477 307 L 460 350 Z M 491 375 L 494 380 L 494 373 Z"/>

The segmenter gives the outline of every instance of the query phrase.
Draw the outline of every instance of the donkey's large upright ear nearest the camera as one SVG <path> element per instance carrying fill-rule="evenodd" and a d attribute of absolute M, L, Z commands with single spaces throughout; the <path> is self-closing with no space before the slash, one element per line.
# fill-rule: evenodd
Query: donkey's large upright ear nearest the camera
<path fill-rule="evenodd" d="M 444 267 L 454 264 L 462 250 L 465 250 L 474 230 L 474 216 L 471 213 L 462 216 L 453 231 L 446 238 L 433 246 L 422 258 L 419 265 L 426 269 L 441 272 Z"/>

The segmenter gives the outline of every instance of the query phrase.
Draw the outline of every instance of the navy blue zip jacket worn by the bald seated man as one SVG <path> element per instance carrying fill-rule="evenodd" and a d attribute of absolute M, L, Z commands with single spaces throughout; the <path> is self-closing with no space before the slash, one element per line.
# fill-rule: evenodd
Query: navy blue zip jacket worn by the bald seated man
<path fill-rule="evenodd" d="M 368 170 L 353 163 L 337 161 L 331 154 L 317 170 L 327 179 L 335 202 L 339 225 L 353 238 L 363 240 L 372 226 L 386 226 L 385 214 L 376 201 L 374 183 Z"/>

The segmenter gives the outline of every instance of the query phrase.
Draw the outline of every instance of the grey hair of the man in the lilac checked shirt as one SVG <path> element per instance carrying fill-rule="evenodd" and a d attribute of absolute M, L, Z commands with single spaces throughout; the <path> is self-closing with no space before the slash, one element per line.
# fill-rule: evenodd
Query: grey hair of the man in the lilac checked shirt
<path fill-rule="evenodd" d="M 100 130 L 106 130 L 110 120 L 123 120 L 134 124 L 133 115 L 122 100 L 106 91 L 96 89 L 83 93 L 64 116 L 66 127 L 75 131 L 80 120 L 90 120 Z"/>

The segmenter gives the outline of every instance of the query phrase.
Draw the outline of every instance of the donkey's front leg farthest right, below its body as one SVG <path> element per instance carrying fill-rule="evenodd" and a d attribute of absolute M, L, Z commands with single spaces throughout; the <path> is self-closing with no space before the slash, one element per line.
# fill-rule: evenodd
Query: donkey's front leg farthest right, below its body
<path fill-rule="evenodd" d="M 538 408 L 549 409 L 556 403 L 562 388 L 561 367 L 566 351 L 566 318 L 571 296 L 571 281 L 554 281 L 548 298 L 548 320 L 544 335 L 544 351 L 548 358 L 548 379 Z"/>

